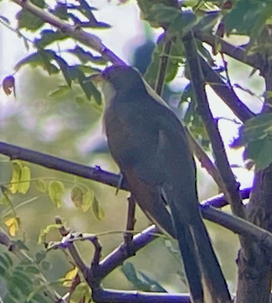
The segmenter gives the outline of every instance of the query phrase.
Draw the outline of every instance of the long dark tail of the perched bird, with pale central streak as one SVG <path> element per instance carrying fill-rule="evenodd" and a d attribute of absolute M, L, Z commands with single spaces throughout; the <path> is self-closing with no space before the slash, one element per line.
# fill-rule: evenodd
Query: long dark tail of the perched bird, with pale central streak
<path fill-rule="evenodd" d="M 193 302 L 231 302 L 227 283 L 202 218 L 199 215 L 197 220 L 188 225 L 175 214 L 177 211 L 172 210 L 177 240 Z"/>

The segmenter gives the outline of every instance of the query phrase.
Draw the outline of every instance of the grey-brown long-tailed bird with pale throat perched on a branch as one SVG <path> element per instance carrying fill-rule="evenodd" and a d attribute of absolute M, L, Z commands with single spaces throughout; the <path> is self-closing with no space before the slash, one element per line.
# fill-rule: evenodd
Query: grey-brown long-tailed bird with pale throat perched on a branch
<path fill-rule="evenodd" d="M 196 165 L 184 126 L 146 89 L 131 66 L 100 75 L 110 153 L 142 211 L 176 238 L 191 301 L 231 301 L 198 207 Z"/>

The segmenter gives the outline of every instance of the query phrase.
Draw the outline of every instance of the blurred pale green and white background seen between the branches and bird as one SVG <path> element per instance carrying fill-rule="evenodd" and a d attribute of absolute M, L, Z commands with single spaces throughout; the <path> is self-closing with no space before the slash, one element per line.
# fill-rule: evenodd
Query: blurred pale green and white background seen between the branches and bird
<path fill-rule="evenodd" d="M 99 29 L 99 32 L 98 30 L 94 30 L 94 32 L 101 36 L 103 42 L 107 43 L 125 61 L 134 64 L 144 73 L 151 60 L 152 52 L 156 48 L 156 40 L 161 31 L 152 29 L 148 23 L 140 20 L 139 9 L 135 1 L 129 1 L 119 6 L 114 1 L 111 3 L 92 1 L 91 5 L 98 7 L 98 11 L 94 13 L 99 17 L 97 17 L 99 22 L 102 22 L 98 23 L 98 27 L 104 28 L 103 31 Z M 0 11 L 1 15 L 14 18 L 14 13 L 18 11 L 18 8 L 10 2 L 2 1 Z M 121 16 L 120 20 L 118 20 L 118 16 Z M 133 21 L 131 22 L 131 20 Z M 13 24 L 16 24 L 15 20 L 11 22 L 11 25 Z M 22 24 L 21 19 L 21 27 L 23 27 Z M 111 29 L 105 29 L 108 28 L 108 24 L 112 25 Z M 228 31 L 231 31 L 231 28 L 228 28 Z M 26 31 L 23 30 L 23 32 Z M 3 79 L 5 76 L 11 75 L 15 64 L 26 54 L 29 55 L 33 49 L 30 46 L 30 51 L 28 51 L 22 38 L 1 25 L 0 38 L 0 77 Z M 231 39 L 237 45 L 246 43 L 247 40 L 239 35 L 231 37 Z M 27 41 L 25 43 L 28 44 Z M 237 94 L 251 110 L 257 112 L 262 105 L 260 101 L 263 90 L 262 79 L 258 75 L 249 78 L 251 72 L 249 67 L 233 59 L 225 59 L 228 62 L 228 70 L 233 83 L 239 83 L 240 86 L 250 88 L 250 91 L 254 92 L 254 94 L 250 94 L 245 90 L 237 89 Z M 178 72 L 177 78 L 170 82 L 164 90 L 166 101 L 174 106 L 179 101 L 181 92 L 187 84 L 188 80 L 184 78 L 184 70 Z M 15 74 L 16 98 L 13 95 L 6 96 L 3 91 L 0 92 L 0 140 L 81 164 L 98 165 L 104 170 L 118 173 L 117 165 L 108 154 L 102 134 L 101 112 L 103 104 L 100 105 L 97 100 L 92 98 L 88 100 L 78 86 L 72 86 L 73 89 L 67 90 L 66 85 L 63 75 L 48 75 L 41 66 L 25 65 L 20 68 Z M 214 115 L 223 117 L 219 119 L 219 126 L 224 142 L 228 145 L 231 139 L 237 135 L 239 125 L 232 121 L 233 115 L 223 102 L 211 90 L 207 91 Z M 181 107 L 180 116 L 184 116 L 185 109 Z M 231 119 L 231 121 L 226 120 L 226 118 Z M 252 172 L 243 168 L 242 151 L 231 151 L 228 147 L 227 150 L 231 164 L 237 167 L 234 172 L 238 180 L 244 186 L 250 185 Z M 1 185 L 8 186 L 12 164 L 4 156 L 1 156 L 0 159 Z M 124 230 L 125 227 L 127 192 L 119 191 L 116 196 L 115 189 L 107 185 L 83 178 L 75 178 L 72 175 L 42 168 L 38 165 L 28 163 L 27 166 L 31 169 L 31 178 L 33 179 L 29 191 L 26 195 L 17 193 L 10 196 L 12 205 L 16 210 L 16 216 L 20 218 L 21 226 L 15 237 L 12 238 L 23 240 L 33 257 L 35 253 L 45 249 L 42 244 L 37 244 L 38 236 L 42 229 L 54 223 L 56 215 L 61 216 L 67 226 L 74 231 L 90 233 L 119 231 L 115 234 L 111 233 L 99 237 L 103 247 L 103 256 L 106 256 L 120 244 L 122 241 L 120 231 Z M 65 194 L 61 208 L 56 208 L 48 195 L 37 189 L 34 181 L 36 179 L 43 180 L 46 184 L 53 180 L 60 180 L 63 183 Z M 83 212 L 75 207 L 70 197 L 70 191 L 75 185 L 84 189 L 89 188 L 94 192 L 104 211 L 104 218 L 98 220 L 91 208 Z M 216 185 L 202 168 L 198 169 L 198 188 L 200 199 L 217 194 Z M 224 209 L 229 211 L 228 207 Z M 8 212 L 7 205 L 0 205 L 0 211 L 1 227 L 8 232 L 5 221 L 11 212 Z M 141 231 L 149 223 L 148 219 L 137 209 L 136 231 Z M 216 224 L 206 223 L 227 282 L 230 285 L 230 291 L 234 291 L 237 238 L 233 233 Z M 51 231 L 46 237 L 46 241 L 59 239 L 60 236 L 56 230 Z M 186 286 L 180 283 L 182 268 L 178 254 L 174 249 L 175 245 L 171 239 L 158 238 L 139 251 L 129 262 L 134 265 L 137 271 L 154 279 L 167 291 L 185 292 L 187 291 Z M 85 260 L 90 262 L 94 252 L 92 245 L 83 242 L 79 243 L 78 247 Z M 5 247 L 0 246 L 0 252 L 4 251 Z M 64 277 L 67 271 L 72 269 L 71 263 L 68 262 L 66 256 L 64 258 L 62 251 L 48 252 L 46 260 L 52 266 L 50 269 L 41 270 L 48 280 Z M 103 286 L 116 289 L 135 289 L 135 284 L 129 282 L 124 275 L 126 270 L 128 272 L 130 270 L 129 265 L 126 266 L 126 268 L 122 270 L 118 268 L 108 275 L 103 281 Z M 5 286 L 0 284 L 0 293 L 4 289 Z"/>

